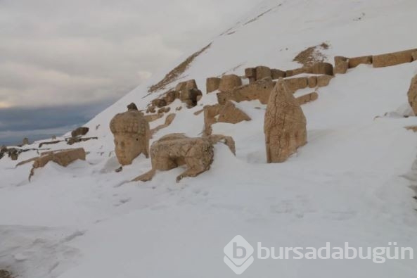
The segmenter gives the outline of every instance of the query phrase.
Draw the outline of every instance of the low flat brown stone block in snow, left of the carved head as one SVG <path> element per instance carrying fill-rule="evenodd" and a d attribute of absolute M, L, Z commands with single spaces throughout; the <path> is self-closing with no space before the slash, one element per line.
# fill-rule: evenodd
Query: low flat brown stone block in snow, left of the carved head
<path fill-rule="evenodd" d="M 86 152 L 84 149 L 68 149 L 63 151 L 48 151 L 46 153 L 41 153 L 41 156 L 34 160 L 32 170 L 30 170 L 29 180 L 34 175 L 34 170 L 37 168 L 43 168 L 50 161 L 67 167 L 75 160 L 85 160 Z"/>

